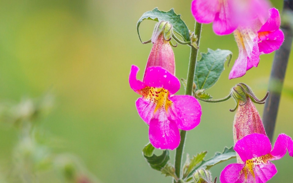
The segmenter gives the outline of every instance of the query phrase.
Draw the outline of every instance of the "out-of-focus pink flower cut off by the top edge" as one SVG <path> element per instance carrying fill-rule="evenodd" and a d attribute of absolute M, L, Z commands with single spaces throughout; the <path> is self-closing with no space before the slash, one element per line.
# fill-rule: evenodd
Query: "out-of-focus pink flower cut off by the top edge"
<path fill-rule="evenodd" d="M 214 32 L 226 35 L 258 16 L 267 16 L 269 7 L 266 0 L 193 0 L 191 12 L 197 22 L 214 22 Z"/>

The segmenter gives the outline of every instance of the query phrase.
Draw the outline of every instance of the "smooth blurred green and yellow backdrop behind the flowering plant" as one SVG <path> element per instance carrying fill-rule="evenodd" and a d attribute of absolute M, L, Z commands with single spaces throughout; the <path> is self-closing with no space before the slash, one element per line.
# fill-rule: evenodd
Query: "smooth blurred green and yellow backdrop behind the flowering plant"
<path fill-rule="evenodd" d="M 128 83 L 130 66 L 144 67 L 151 44 L 138 39 L 136 23 L 140 16 L 155 7 L 182 14 L 194 29 L 191 1 L 102 1 L 50 0 L 0 1 L 0 101 L 20 101 L 23 96 L 38 97 L 50 91 L 55 106 L 42 128 L 65 144 L 58 152 L 78 155 L 101 183 L 171 182 L 152 170 L 142 156 L 148 143 L 148 126 L 137 114 L 139 97 Z M 282 10 L 282 1 L 272 1 Z M 155 22 L 145 20 L 140 26 L 143 41 L 151 37 Z M 217 36 L 212 26 L 203 25 L 200 52 L 229 49 L 238 56 L 233 35 Z M 176 76 L 186 78 L 190 48 L 174 48 Z M 237 83 L 251 86 L 256 96 L 265 96 L 274 53 L 262 55 L 258 68 L 242 78 L 228 79 L 230 68 L 208 93 L 214 98 L 229 94 Z M 293 58 L 290 57 L 285 87 L 293 87 Z M 181 87 L 178 94 L 183 94 Z M 208 150 L 207 157 L 225 146 L 233 145 L 235 102 L 201 102 L 201 124 L 188 132 L 185 152 L 190 155 Z M 260 114 L 264 105 L 256 105 Z M 277 117 L 275 138 L 279 133 L 293 137 L 293 100 L 283 92 Z M 17 142 L 17 130 L 0 129 L 0 173 L 9 166 L 11 151 Z M 174 152 L 171 152 L 173 157 Z M 171 160 L 173 162 L 173 159 Z M 228 163 L 234 162 L 230 160 Z M 274 162 L 278 173 L 269 182 L 292 182 L 293 158 Z M 219 177 L 227 162 L 212 168 Z"/>

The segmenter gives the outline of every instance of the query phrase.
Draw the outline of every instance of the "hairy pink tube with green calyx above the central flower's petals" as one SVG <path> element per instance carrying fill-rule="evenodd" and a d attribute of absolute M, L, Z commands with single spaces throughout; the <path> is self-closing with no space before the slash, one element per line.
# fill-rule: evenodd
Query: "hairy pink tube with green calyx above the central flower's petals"
<path fill-rule="evenodd" d="M 175 75 L 175 57 L 170 45 L 172 35 L 173 27 L 170 23 L 161 21 L 156 25 L 151 37 L 154 45 L 149 54 L 144 78 L 147 74 L 147 68 L 152 66 L 160 66 Z"/>

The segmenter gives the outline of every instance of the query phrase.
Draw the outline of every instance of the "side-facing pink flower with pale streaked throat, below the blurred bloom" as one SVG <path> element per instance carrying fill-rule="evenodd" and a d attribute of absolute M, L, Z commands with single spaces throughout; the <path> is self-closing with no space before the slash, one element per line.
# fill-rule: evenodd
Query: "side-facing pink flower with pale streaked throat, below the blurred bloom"
<path fill-rule="evenodd" d="M 229 74 L 229 79 L 244 76 L 253 66 L 257 67 L 260 54 L 268 54 L 280 48 L 284 33 L 280 30 L 280 14 L 276 8 L 269 10 L 265 21 L 257 18 L 251 27 L 239 27 L 234 36 L 239 48 L 239 56 Z"/>

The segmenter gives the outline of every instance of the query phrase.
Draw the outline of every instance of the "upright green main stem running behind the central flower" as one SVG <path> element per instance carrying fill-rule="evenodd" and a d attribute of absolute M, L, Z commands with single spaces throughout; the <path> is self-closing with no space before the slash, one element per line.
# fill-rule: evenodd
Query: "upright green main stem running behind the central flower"
<path fill-rule="evenodd" d="M 197 35 L 197 42 L 196 42 L 197 45 L 200 44 L 201 30 L 202 30 L 202 24 L 196 22 L 194 34 Z M 191 47 L 185 95 L 192 95 L 197 54 L 198 54 L 198 49 Z M 186 137 L 186 131 L 181 130 L 180 132 L 181 141 L 178 148 L 176 148 L 176 155 L 175 155 L 175 174 L 179 179 L 181 178 L 181 161 L 182 161 L 183 149 L 185 144 L 185 137 Z M 174 182 L 176 181 L 174 180 Z"/>

